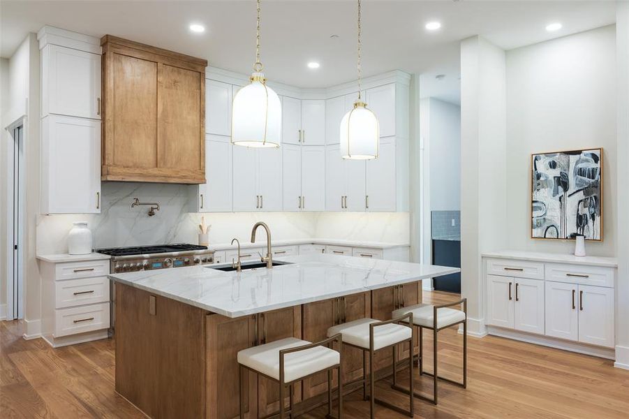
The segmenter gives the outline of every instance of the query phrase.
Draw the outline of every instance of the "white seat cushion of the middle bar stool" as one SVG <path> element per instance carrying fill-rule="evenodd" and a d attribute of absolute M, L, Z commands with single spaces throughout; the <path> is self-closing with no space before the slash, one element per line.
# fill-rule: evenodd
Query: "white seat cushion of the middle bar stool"
<path fill-rule="evenodd" d="M 369 349 L 369 325 L 378 322 L 379 320 L 373 320 L 373 318 L 360 318 L 332 326 L 327 330 L 327 336 L 332 337 L 340 333 L 343 342 Z M 408 340 L 412 334 L 413 331 L 408 326 L 394 323 L 378 326 L 373 329 L 373 350 Z"/>

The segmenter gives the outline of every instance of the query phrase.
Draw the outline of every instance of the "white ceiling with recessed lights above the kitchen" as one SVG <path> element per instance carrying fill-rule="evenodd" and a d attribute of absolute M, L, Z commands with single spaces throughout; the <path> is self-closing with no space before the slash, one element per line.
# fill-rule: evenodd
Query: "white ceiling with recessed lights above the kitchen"
<path fill-rule="evenodd" d="M 613 24 L 614 1 L 363 0 L 363 73 L 401 69 L 426 73 L 433 96 L 457 101 L 459 41 L 480 34 L 506 50 Z M 88 34 L 112 34 L 202 57 L 211 66 L 250 73 L 256 3 L 230 1 L 1 0 L 1 57 L 10 57 L 27 32 L 45 24 Z M 434 33 L 425 22 L 439 20 Z M 546 25 L 561 21 L 549 33 Z M 192 34 L 191 22 L 204 24 Z M 331 39 L 331 35 L 339 38 Z M 299 87 L 355 79 L 355 1 L 262 0 L 262 63 L 267 78 Z M 321 67 L 306 68 L 308 61 Z M 454 81 L 456 80 L 456 81 Z M 442 91 L 440 93 L 440 91 Z"/>

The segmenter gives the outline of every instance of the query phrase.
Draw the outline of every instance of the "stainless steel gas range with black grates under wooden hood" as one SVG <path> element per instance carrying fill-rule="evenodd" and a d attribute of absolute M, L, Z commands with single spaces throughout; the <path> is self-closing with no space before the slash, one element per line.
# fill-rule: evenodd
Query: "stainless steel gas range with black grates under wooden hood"
<path fill-rule="evenodd" d="M 114 273 L 214 263 L 214 251 L 195 244 L 115 247 L 98 249 L 97 252 L 112 257 L 110 268 Z"/>

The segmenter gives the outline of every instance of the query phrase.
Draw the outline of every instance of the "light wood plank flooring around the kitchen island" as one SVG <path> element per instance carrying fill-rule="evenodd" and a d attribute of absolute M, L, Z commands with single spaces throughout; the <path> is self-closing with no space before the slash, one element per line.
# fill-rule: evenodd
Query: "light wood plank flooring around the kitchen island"
<path fill-rule="evenodd" d="M 457 297 L 424 292 L 424 301 L 437 304 Z M 430 371 L 432 337 L 424 333 Z M 440 373 L 458 378 L 461 336 L 445 330 L 439 340 Z M 612 361 L 498 337 L 468 343 L 467 390 L 441 383 L 438 406 L 415 399 L 415 418 L 629 418 L 629 372 Z M 0 418 L 142 418 L 114 392 L 114 362 L 111 339 L 52 349 L 42 339 L 22 339 L 19 322 L 0 322 Z M 378 397 L 406 406 L 388 384 L 378 384 Z M 415 386 L 429 392 L 431 381 L 417 376 Z M 361 396 L 346 397 L 346 418 L 369 417 Z M 376 409 L 378 418 L 405 417 Z"/>

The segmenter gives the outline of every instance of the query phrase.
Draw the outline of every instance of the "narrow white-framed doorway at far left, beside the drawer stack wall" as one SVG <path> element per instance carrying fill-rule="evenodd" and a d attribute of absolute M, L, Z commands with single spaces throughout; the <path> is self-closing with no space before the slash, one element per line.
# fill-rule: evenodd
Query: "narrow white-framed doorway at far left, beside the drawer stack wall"
<path fill-rule="evenodd" d="M 24 318 L 24 124 L 8 129 L 6 318 Z"/>

